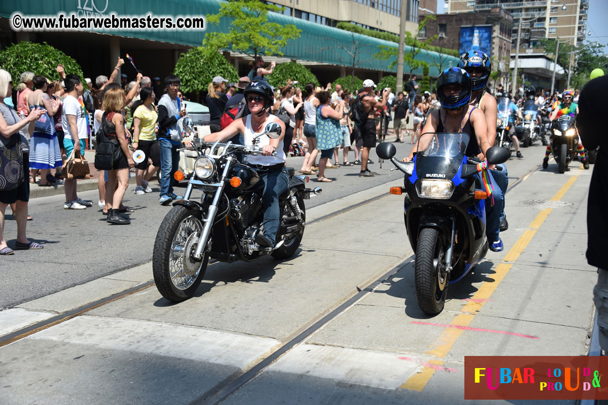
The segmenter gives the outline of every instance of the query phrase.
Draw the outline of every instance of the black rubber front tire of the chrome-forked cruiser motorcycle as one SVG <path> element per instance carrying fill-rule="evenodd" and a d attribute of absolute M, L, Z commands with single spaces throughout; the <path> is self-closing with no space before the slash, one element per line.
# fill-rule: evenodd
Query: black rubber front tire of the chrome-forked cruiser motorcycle
<path fill-rule="evenodd" d="M 173 302 L 182 302 L 194 295 L 198 286 L 201 285 L 202 277 L 207 270 L 207 262 L 209 261 L 209 255 L 207 255 L 207 252 L 203 252 L 204 256 L 199 262 L 198 274 L 195 274 L 196 278 L 193 281 L 192 277 L 190 277 L 188 288 L 181 289 L 174 284 L 174 278 L 171 277 L 171 260 L 175 260 L 173 256 L 176 253 L 172 251 L 172 246 L 176 238 L 180 238 L 177 232 L 184 221 L 192 221 L 195 224 L 198 221 L 199 227 L 202 230 L 201 211 L 191 210 L 184 206 L 174 206 L 165 215 L 164 220 L 162 220 L 156 234 L 156 240 L 154 240 L 154 252 L 152 255 L 154 282 L 162 296 Z M 190 250 L 196 246 L 188 243 L 185 244 L 186 246 L 190 246 Z M 185 249 L 181 251 L 181 254 L 187 254 Z M 193 266 L 198 266 L 198 262 L 193 263 Z M 174 271 L 181 271 L 183 273 L 185 269 L 174 269 Z M 177 277 L 177 275 L 174 274 L 174 277 Z"/>

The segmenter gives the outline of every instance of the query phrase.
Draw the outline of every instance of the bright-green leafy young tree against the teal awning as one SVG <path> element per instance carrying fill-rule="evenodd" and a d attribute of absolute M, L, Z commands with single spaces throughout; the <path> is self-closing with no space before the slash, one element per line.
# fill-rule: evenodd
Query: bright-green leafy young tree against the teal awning
<path fill-rule="evenodd" d="M 212 50 L 229 49 L 233 52 L 257 55 L 283 55 L 281 48 L 289 40 L 300 37 L 301 30 L 293 24 L 282 26 L 268 21 L 268 12 L 282 12 L 283 7 L 259 0 L 227 0 L 219 5 L 219 13 L 208 15 L 209 24 L 219 24 L 229 18 L 228 32 L 207 32 L 202 41 Z"/>

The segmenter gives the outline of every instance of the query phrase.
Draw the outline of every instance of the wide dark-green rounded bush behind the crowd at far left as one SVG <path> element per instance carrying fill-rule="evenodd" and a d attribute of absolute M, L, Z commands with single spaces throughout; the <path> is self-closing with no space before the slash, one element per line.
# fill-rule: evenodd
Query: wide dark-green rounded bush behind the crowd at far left
<path fill-rule="evenodd" d="M 55 80 L 58 78 L 55 68 L 60 63 L 66 74 L 77 74 L 85 80 L 77 61 L 46 42 L 20 42 L 0 51 L 0 67 L 10 73 L 15 86 L 19 83 L 19 76 L 27 71 Z"/>

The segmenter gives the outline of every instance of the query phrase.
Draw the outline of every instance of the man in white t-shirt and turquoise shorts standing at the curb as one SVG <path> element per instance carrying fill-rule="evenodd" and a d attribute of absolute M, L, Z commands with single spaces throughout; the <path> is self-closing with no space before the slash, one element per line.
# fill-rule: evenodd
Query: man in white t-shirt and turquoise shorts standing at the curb
<path fill-rule="evenodd" d="M 86 148 L 86 110 L 85 105 L 78 97 L 81 97 L 85 87 L 82 85 L 80 76 L 67 75 L 64 80 L 64 88 L 67 95 L 63 99 L 63 109 L 61 111 L 61 125 L 63 125 L 64 139 L 63 147 L 67 157 L 72 151 L 74 154 L 84 154 Z M 66 193 L 66 203 L 63 208 L 66 210 L 81 210 L 91 207 L 91 201 L 84 201 L 78 198 L 76 193 L 76 180 L 64 179 L 64 192 Z"/>

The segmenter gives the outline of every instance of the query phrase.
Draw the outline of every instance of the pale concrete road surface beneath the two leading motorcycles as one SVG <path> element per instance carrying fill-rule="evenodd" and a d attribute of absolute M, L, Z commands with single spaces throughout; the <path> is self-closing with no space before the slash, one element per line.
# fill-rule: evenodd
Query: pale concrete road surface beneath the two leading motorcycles
<path fill-rule="evenodd" d="M 186 302 L 151 286 L 2 345 L 0 402 L 472 403 L 464 356 L 587 353 L 596 273 L 584 260 L 591 173 L 579 165 L 536 171 L 508 193 L 505 251 L 450 285 L 435 317 L 416 303 L 403 200 L 385 195 L 402 178 L 387 172 L 309 209 L 309 221 L 335 215 L 310 223 L 290 260 L 215 263 Z M 510 178 L 535 166 L 514 160 Z M 131 263 L 0 311 L 0 332 L 151 278 L 148 263 Z"/>

